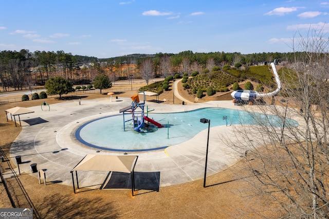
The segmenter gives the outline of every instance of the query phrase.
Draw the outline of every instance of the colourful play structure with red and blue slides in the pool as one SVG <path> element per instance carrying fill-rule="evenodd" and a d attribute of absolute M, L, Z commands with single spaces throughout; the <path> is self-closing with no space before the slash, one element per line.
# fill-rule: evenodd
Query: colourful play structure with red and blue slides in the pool
<path fill-rule="evenodd" d="M 142 130 L 145 130 L 145 128 L 148 129 L 148 131 L 153 131 L 154 125 L 157 127 L 163 127 L 162 124 L 148 117 L 148 114 L 150 112 L 148 107 L 147 107 L 147 116 L 144 115 L 145 94 L 143 95 L 144 95 L 143 102 L 139 101 L 139 96 L 138 94 L 136 94 L 131 97 L 133 102 L 130 106 L 120 109 L 119 113 L 123 113 L 123 131 L 126 131 L 125 124 L 127 122 L 131 122 L 131 124 L 133 124 L 133 130 L 136 132 L 143 132 Z M 126 120 L 125 115 L 131 115 L 130 119 Z M 153 128 L 151 124 L 153 125 Z"/>

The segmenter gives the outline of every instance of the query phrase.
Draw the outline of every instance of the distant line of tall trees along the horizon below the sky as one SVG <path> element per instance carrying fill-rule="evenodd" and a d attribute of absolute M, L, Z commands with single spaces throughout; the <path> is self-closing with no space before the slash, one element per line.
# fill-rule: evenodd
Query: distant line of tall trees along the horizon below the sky
<path fill-rule="evenodd" d="M 109 59 L 78 56 L 60 51 L 0 51 L 0 81 L 3 90 L 10 87 L 22 90 L 44 85 L 49 78 L 61 76 L 73 84 L 88 84 L 93 78 L 104 73 L 113 82 L 116 80 L 152 77 L 168 77 L 214 66 L 246 65 L 265 63 L 273 60 L 293 60 L 293 54 L 280 52 L 263 52 L 241 54 L 239 52 L 193 53 L 182 51 L 178 54 L 131 54 L 129 56 Z M 149 61 L 146 61 L 149 60 Z M 151 66 L 150 66 L 151 65 Z M 147 68 L 145 71 L 144 68 Z"/>

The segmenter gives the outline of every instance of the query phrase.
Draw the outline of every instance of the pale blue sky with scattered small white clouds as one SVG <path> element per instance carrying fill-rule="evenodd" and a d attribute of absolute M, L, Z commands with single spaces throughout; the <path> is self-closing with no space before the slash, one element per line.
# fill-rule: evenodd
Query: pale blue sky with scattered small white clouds
<path fill-rule="evenodd" d="M 328 19 L 325 0 L 0 0 L 0 50 L 289 52 L 296 33 L 328 32 Z"/>

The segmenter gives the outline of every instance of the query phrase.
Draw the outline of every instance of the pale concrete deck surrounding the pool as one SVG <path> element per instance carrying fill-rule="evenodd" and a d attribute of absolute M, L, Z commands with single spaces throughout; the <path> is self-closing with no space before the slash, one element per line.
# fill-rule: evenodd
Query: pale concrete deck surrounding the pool
<path fill-rule="evenodd" d="M 48 105 L 29 107 L 34 113 L 20 116 L 23 129 L 12 144 L 10 158 L 15 162 L 15 156 L 21 156 L 22 174 L 27 173 L 38 177 L 38 173 L 32 173 L 30 170 L 30 165 L 36 163 L 38 170 L 45 170 L 47 182 L 59 182 L 71 186 L 70 171 L 86 154 L 123 155 L 123 152 L 97 150 L 83 145 L 75 139 L 77 127 L 96 118 L 117 115 L 119 109 L 130 105 L 131 102 L 130 98 L 114 99 L 113 102 L 109 98 L 101 98 L 82 99 L 81 104 L 78 100 L 51 104 L 50 110 Z M 232 101 L 189 102 L 187 105 L 146 101 L 145 105 L 154 108 L 154 113 L 182 112 L 202 107 L 241 109 Z M 223 133 L 231 135 L 232 128 L 232 126 L 211 127 L 207 176 L 223 171 L 241 159 L 220 138 Z M 135 174 L 139 174 L 136 177 L 139 184 L 148 184 L 148 181 L 151 181 L 149 187 L 144 187 L 147 189 L 155 184 L 157 187 L 165 187 L 202 179 L 205 169 L 207 134 L 208 125 L 205 124 L 205 130 L 184 143 L 165 150 L 127 153 L 139 156 L 135 167 Z M 99 188 L 107 176 L 108 172 L 80 171 L 79 186 L 80 188 Z M 10 174 L 7 174 L 7 177 L 10 177 Z M 115 177 L 113 178 L 115 180 Z M 119 178 L 117 180 L 120 181 Z M 125 186 L 120 188 L 125 188 Z M 126 185 L 126 188 L 130 186 Z"/>

